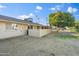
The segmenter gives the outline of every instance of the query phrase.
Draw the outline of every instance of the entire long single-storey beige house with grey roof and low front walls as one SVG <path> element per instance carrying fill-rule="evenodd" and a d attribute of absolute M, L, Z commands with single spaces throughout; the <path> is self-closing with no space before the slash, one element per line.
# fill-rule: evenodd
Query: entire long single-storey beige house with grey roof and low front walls
<path fill-rule="evenodd" d="M 20 35 L 42 37 L 50 32 L 51 29 L 49 26 L 0 15 L 0 38 L 9 38 Z"/>

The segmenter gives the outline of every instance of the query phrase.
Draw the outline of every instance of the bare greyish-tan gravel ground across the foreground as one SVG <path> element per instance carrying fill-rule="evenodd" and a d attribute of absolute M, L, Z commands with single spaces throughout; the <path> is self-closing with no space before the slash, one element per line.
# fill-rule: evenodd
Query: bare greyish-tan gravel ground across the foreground
<path fill-rule="evenodd" d="M 62 34 L 62 33 L 60 33 Z M 66 33 L 67 34 L 67 33 Z M 79 56 L 79 40 L 51 33 L 42 38 L 20 36 L 0 40 L 1 56 Z M 70 35 L 69 33 L 67 35 Z"/>

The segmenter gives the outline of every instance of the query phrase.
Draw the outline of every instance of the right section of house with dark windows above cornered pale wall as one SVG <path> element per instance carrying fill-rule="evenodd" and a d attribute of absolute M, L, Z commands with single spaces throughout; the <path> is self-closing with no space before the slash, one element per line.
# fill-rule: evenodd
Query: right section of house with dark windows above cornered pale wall
<path fill-rule="evenodd" d="M 48 33 L 51 33 L 51 28 L 49 26 L 44 26 L 38 23 L 34 23 L 29 26 L 30 36 L 42 37 Z"/>

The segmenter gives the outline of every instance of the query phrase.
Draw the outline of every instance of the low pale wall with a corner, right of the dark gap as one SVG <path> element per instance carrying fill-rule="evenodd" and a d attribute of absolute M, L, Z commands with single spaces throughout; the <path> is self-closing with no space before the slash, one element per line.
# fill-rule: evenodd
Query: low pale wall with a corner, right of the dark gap
<path fill-rule="evenodd" d="M 42 37 L 51 33 L 51 29 L 29 29 L 29 36 Z"/>

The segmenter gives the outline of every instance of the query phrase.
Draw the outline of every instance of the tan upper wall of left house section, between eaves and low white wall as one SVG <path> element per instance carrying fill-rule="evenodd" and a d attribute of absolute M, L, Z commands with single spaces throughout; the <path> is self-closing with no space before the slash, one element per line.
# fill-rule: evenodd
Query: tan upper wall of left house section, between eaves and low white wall
<path fill-rule="evenodd" d="M 27 30 L 28 28 L 28 25 L 25 23 L 18 23 L 15 21 L 8 21 L 8 20 L 0 19 L 1 30 L 6 30 L 6 27 L 12 27 L 12 24 L 16 24 L 17 25 L 16 29 L 18 30 Z"/>

